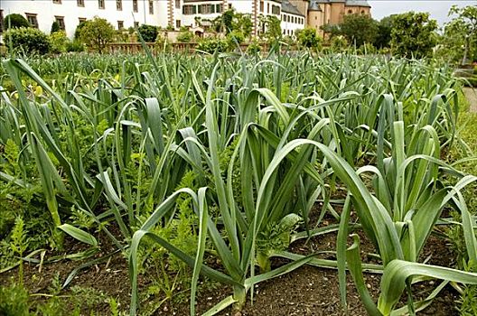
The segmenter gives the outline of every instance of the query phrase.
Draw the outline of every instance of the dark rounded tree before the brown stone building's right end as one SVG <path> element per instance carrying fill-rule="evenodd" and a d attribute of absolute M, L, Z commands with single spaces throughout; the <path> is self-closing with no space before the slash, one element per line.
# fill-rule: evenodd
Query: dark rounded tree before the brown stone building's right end
<path fill-rule="evenodd" d="M 378 23 L 369 15 L 348 14 L 340 24 L 341 35 L 348 42 L 360 47 L 366 42 L 374 42 L 378 36 Z"/>

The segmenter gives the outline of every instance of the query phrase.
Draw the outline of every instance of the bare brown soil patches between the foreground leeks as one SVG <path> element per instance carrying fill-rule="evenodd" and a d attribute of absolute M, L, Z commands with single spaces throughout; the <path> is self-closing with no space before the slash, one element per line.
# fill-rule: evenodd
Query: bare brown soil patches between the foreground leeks
<path fill-rule="evenodd" d="M 332 218 L 326 220 L 328 224 Z M 367 238 L 360 233 L 362 257 L 370 261 L 367 253 L 374 252 L 374 247 Z M 114 246 L 108 245 L 108 241 L 102 239 L 103 252 L 96 257 L 104 256 L 114 250 Z M 335 249 L 336 235 L 327 234 L 321 237 L 313 237 L 308 243 L 304 240 L 295 242 L 290 246 L 290 251 L 298 254 L 311 254 L 319 251 Z M 69 241 L 67 248 L 75 251 L 81 250 L 81 246 Z M 69 251 L 71 253 L 72 251 Z M 332 255 L 323 255 L 324 258 L 333 258 Z M 431 236 L 426 245 L 426 249 L 421 256 L 421 260 L 428 259 L 430 264 L 453 266 L 453 256 L 444 240 L 439 237 Z M 276 259 L 274 266 L 282 265 L 283 259 Z M 71 270 L 81 265 L 80 261 L 61 260 L 50 265 L 43 265 L 40 271 L 39 265 L 24 265 L 25 286 L 30 293 L 48 293 L 48 287 L 51 285 L 51 279 L 54 274 L 59 273 L 61 280 L 65 280 Z M 0 285 L 10 283 L 17 275 L 16 269 L 5 274 L 0 274 Z M 377 299 L 379 294 L 379 274 L 366 274 L 366 283 L 369 286 L 369 292 Z M 145 289 L 147 280 L 139 279 L 140 289 Z M 203 281 L 202 281 L 203 283 Z M 416 297 L 425 297 L 435 288 L 433 282 L 420 283 L 413 290 Z M 71 285 L 81 285 L 82 287 L 91 287 L 100 292 L 106 293 L 109 297 L 114 297 L 119 302 L 119 309 L 127 311 L 130 302 L 130 285 L 127 274 L 126 258 L 121 254 L 112 256 L 108 262 L 93 265 L 79 273 Z M 351 316 L 366 315 L 366 311 L 360 302 L 358 293 L 355 290 L 351 277 L 348 276 L 348 304 Z M 338 275 L 335 270 L 322 269 L 313 266 L 302 266 L 290 274 L 277 277 L 273 280 L 259 283 L 254 288 L 253 305 L 248 299 L 244 310 L 240 313 L 229 308 L 220 313 L 221 316 L 251 316 L 251 315 L 342 315 Z M 201 292 L 197 298 L 197 311 L 199 314 L 209 310 L 213 305 L 220 302 L 231 293 L 231 289 L 226 286 L 209 283 L 201 287 Z M 66 290 L 62 294 L 69 294 Z M 184 295 L 185 294 L 185 295 Z M 189 302 L 188 293 L 182 293 L 182 302 L 164 302 L 161 307 L 155 311 L 154 315 L 188 315 Z M 435 302 L 425 311 L 418 315 L 457 315 L 454 309 L 454 302 L 457 300 L 457 293 L 452 287 L 447 287 L 439 295 Z M 41 300 L 41 299 L 40 299 Z M 400 304 L 405 304 L 406 294 Z M 108 304 L 104 303 L 95 307 L 95 313 L 98 315 L 108 315 Z M 85 311 L 85 314 L 89 314 Z"/>

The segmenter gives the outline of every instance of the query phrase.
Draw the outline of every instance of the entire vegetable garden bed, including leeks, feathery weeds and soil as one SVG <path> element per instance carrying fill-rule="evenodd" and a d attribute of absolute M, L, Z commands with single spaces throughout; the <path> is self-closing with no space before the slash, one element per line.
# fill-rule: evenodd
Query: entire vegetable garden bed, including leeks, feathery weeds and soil
<path fill-rule="evenodd" d="M 272 51 L 11 59 L 2 71 L 5 302 L 42 314 L 472 310 L 475 147 L 452 69 Z"/>

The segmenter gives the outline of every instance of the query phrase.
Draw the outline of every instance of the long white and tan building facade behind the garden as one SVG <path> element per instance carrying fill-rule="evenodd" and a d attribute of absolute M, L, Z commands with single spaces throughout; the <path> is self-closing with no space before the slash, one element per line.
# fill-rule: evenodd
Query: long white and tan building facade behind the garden
<path fill-rule="evenodd" d="M 152 24 L 178 30 L 200 26 L 230 8 L 250 14 L 254 35 L 264 31 L 260 21 L 267 15 L 281 21 L 284 35 L 294 36 L 307 25 L 323 35 L 321 26 L 341 23 L 346 14 L 370 14 L 361 0 L 0 0 L 0 16 L 22 14 L 45 33 L 57 22 L 70 37 L 80 22 L 95 16 L 117 29 Z"/>

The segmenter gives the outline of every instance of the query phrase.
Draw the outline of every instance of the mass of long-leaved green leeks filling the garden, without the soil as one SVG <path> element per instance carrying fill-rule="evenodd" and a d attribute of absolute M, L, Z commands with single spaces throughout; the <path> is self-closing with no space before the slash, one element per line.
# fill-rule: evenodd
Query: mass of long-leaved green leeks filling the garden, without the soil
<path fill-rule="evenodd" d="M 230 304 L 241 309 L 255 284 L 301 265 L 338 269 L 343 306 L 350 271 L 371 315 L 412 313 L 445 283 L 477 283 L 476 274 L 418 262 L 446 207 L 462 215 L 468 259 L 477 259 L 474 218 L 460 193 L 477 178 L 441 160 L 442 149 L 459 142 L 457 83 L 448 70 L 418 60 L 273 53 L 263 60 L 126 58 L 112 75 L 94 57 L 89 64 L 95 62 L 100 69 L 91 75 L 49 84 L 37 74 L 42 65 L 5 60 L 16 91 L 2 92 L 0 141 L 22 148 L 21 164 L 36 163 L 59 235 L 97 246 L 89 232 L 65 222 L 61 209 L 74 205 L 128 254 L 131 314 L 140 309 L 138 248 L 145 237 L 192 267 L 191 314 L 200 274 L 233 288 L 210 315 Z M 25 78 L 42 88 L 41 96 Z M 76 133 L 81 125 L 89 126 L 89 144 Z M 189 171 L 193 187 L 176 190 Z M 0 179 L 30 185 L 26 174 L 0 171 Z M 347 194 L 338 211 L 331 200 L 340 186 Z M 184 194 L 198 218 L 195 256 L 154 234 L 177 215 L 175 200 Z M 317 200 L 319 218 L 330 212 L 339 225 L 313 227 Z M 380 265 L 361 263 L 356 235 L 346 247 L 351 209 Z M 105 220 L 117 223 L 120 236 Z M 293 240 L 332 231 L 336 260 L 286 250 Z M 220 257 L 222 269 L 204 265 L 206 251 Z M 274 256 L 290 263 L 272 269 Z M 363 271 L 383 274 L 377 304 Z M 407 306 L 396 309 L 401 294 L 426 277 L 444 281 L 432 297 L 414 302 L 409 294 Z"/>

